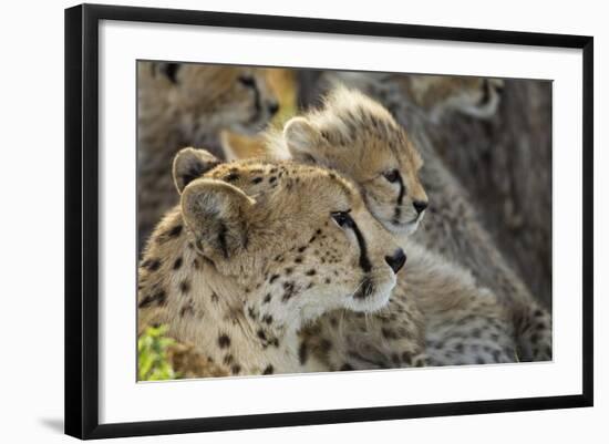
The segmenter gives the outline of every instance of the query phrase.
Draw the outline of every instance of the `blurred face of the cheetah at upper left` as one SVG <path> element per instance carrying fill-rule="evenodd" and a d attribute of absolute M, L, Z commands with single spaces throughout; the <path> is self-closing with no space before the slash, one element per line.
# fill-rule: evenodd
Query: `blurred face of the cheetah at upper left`
<path fill-rule="evenodd" d="M 163 82 L 182 125 L 194 133 L 226 127 L 252 135 L 279 110 L 262 69 L 195 63 L 151 63 L 141 69 Z"/>

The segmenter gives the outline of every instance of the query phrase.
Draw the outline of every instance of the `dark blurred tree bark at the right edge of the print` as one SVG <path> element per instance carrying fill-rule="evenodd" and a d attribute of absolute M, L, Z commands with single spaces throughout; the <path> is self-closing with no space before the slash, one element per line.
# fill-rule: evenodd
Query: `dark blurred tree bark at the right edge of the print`
<path fill-rule="evenodd" d="M 551 83 L 506 80 L 495 115 L 446 115 L 431 131 L 486 228 L 551 307 Z"/>

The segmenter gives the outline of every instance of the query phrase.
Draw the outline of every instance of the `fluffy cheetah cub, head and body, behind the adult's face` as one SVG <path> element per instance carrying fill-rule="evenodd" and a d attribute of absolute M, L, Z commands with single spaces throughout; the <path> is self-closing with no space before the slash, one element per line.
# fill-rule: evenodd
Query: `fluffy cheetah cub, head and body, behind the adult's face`
<path fill-rule="evenodd" d="M 347 173 L 394 234 L 412 234 L 426 213 L 419 153 L 389 112 L 358 92 L 336 90 L 322 110 L 269 134 L 268 145 L 272 155 Z M 496 297 L 442 256 L 405 238 L 402 247 L 409 260 L 390 306 L 363 318 L 322 318 L 303 330 L 302 347 L 312 352 L 302 355 L 334 370 L 424 364 L 423 350 L 433 365 L 514 362 L 509 313 Z"/>

